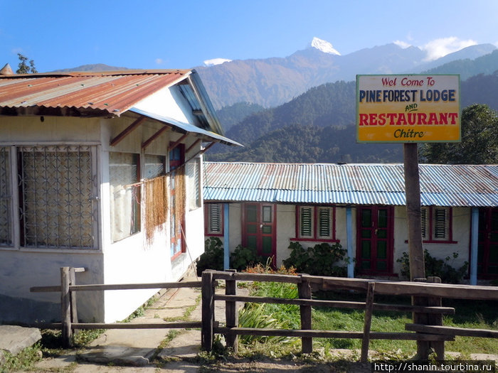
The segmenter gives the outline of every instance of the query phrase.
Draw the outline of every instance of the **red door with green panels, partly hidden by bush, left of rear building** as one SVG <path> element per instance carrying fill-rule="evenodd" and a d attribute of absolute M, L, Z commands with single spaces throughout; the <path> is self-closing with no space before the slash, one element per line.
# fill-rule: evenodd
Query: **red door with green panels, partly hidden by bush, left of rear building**
<path fill-rule="evenodd" d="M 242 246 L 255 249 L 265 260 L 277 260 L 275 205 L 265 203 L 245 203 L 243 207 Z"/>

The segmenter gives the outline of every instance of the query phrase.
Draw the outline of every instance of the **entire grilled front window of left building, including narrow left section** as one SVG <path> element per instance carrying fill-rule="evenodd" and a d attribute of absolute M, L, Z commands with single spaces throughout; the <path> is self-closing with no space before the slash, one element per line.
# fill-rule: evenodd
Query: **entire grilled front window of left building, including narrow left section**
<path fill-rule="evenodd" d="M 0 244 L 95 248 L 94 160 L 93 146 L 0 148 Z"/>

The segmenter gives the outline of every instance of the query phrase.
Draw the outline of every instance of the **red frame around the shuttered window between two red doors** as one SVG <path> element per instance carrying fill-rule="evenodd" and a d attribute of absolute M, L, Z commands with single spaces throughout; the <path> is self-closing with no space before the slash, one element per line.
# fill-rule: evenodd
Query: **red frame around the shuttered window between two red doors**
<path fill-rule="evenodd" d="M 302 234 L 302 210 L 311 209 L 310 214 L 310 225 L 311 234 Z M 321 217 L 320 211 L 327 209 L 329 210 L 329 235 L 320 235 L 321 227 Z M 305 241 L 305 242 L 340 242 L 336 237 L 336 206 L 333 205 L 296 205 L 295 213 L 295 237 L 291 241 Z"/>

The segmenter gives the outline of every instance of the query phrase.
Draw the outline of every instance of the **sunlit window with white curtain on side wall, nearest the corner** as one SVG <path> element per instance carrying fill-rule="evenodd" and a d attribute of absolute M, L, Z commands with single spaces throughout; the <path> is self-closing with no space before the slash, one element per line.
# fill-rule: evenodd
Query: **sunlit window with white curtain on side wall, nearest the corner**
<path fill-rule="evenodd" d="M 140 230 L 139 155 L 109 153 L 112 242 Z"/>

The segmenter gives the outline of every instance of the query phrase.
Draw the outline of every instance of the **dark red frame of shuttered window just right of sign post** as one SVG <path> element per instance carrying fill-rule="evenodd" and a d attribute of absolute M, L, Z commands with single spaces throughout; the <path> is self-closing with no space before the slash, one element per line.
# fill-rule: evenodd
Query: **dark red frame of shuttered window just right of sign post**
<path fill-rule="evenodd" d="M 445 211 L 445 236 L 436 237 L 436 215 L 438 211 Z M 442 206 L 423 206 L 420 209 L 420 226 L 422 231 L 422 242 L 425 244 L 457 244 L 453 241 L 453 209 Z"/>

